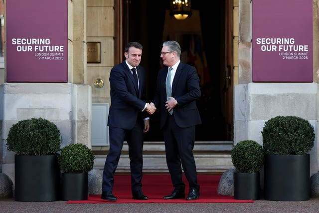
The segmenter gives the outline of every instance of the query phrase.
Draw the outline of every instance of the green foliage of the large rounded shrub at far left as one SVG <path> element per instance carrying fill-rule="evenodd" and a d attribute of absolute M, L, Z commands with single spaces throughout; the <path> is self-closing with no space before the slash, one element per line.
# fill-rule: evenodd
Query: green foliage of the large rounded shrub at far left
<path fill-rule="evenodd" d="M 57 155 L 60 145 L 59 128 L 43 118 L 31 118 L 13 124 L 6 139 L 7 150 L 17 155 Z"/>

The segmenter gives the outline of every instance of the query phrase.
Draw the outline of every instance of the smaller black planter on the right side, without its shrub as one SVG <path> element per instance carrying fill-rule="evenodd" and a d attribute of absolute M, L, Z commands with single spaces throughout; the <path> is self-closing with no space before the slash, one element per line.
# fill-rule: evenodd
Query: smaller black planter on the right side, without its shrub
<path fill-rule="evenodd" d="M 234 172 L 234 199 L 258 200 L 260 197 L 260 175 Z"/>

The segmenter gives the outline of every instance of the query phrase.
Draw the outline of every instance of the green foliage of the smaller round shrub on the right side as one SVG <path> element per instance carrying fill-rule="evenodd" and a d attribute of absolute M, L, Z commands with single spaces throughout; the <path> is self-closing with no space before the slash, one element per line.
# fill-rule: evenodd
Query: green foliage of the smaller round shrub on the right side
<path fill-rule="evenodd" d="M 253 140 L 240 141 L 231 150 L 231 160 L 237 172 L 258 172 L 264 165 L 263 147 Z"/>

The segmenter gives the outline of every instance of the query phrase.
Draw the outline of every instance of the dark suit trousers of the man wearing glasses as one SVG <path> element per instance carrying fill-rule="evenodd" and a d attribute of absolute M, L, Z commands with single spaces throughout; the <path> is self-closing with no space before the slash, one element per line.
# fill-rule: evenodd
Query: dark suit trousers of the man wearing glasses
<path fill-rule="evenodd" d="M 174 113 L 167 113 L 164 125 L 166 163 L 174 189 L 183 189 L 182 169 L 190 189 L 199 190 L 196 165 L 192 150 L 195 143 L 195 126 L 180 128 L 177 126 Z"/>

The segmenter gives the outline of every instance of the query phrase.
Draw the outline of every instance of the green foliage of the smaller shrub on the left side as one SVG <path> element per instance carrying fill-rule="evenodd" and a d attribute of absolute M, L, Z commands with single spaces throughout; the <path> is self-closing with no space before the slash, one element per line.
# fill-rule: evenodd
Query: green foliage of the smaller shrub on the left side
<path fill-rule="evenodd" d="M 64 173 L 87 173 L 93 169 L 95 156 L 84 144 L 69 144 L 58 155 L 60 170 Z"/>

